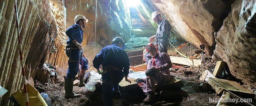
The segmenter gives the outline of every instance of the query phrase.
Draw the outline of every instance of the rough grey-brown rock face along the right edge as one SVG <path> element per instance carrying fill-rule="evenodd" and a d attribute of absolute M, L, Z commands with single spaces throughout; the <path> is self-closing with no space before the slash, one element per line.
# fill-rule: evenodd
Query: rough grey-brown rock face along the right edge
<path fill-rule="evenodd" d="M 256 1 L 236 0 L 215 38 L 214 59 L 227 62 L 232 75 L 256 88 Z"/>

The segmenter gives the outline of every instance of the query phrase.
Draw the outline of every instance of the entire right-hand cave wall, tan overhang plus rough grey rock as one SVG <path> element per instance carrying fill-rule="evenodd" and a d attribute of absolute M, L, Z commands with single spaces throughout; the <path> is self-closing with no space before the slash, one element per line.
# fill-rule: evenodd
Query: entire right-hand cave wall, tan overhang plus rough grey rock
<path fill-rule="evenodd" d="M 177 37 L 205 45 L 214 60 L 227 62 L 233 76 L 256 87 L 255 0 L 142 1 L 170 21 Z"/>

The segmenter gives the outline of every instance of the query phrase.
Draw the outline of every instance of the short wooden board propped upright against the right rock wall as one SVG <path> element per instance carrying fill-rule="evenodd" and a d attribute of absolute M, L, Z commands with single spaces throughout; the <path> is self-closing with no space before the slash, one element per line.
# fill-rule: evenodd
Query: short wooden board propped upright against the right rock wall
<path fill-rule="evenodd" d="M 221 77 L 222 76 L 222 72 L 223 72 L 223 70 L 224 70 L 224 68 L 225 68 L 225 66 L 226 66 L 226 62 L 224 62 L 224 61 L 217 61 L 216 62 L 216 65 L 215 65 L 215 68 L 214 68 L 214 71 L 213 71 L 213 75 L 215 76 L 215 77 Z"/>

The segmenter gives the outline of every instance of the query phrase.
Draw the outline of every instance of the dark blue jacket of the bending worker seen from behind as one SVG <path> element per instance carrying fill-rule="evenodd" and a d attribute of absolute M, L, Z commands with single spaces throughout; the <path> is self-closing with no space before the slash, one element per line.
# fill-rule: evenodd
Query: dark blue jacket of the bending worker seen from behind
<path fill-rule="evenodd" d="M 127 53 L 121 47 L 113 44 L 106 46 L 100 50 L 99 54 L 93 59 L 93 66 L 99 69 L 102 64 L 104 69 L 106 66 L 111 65 L 123 69 L 124 75 L 129 74 L 130 61 Z"/>

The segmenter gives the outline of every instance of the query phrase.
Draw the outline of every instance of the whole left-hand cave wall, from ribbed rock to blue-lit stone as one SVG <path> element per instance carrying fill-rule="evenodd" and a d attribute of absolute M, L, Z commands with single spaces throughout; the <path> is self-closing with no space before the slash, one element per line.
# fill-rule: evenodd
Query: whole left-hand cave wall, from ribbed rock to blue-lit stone
<path fill-rule="evenodd" d="M 22 36 L 22 51 L 25 63 L 27 82 L 33 85 L 36 71 L 43 63 L 56 63 L 60 75 L 66 74 L 68 58 L 64 47 L 68 37 L 66 29 L 74 24 L 75 15 L 82 14 L 89 19 L 84 28 L 83 45 L 94 46 L 94 25 L 96 0 L 23 0 L 18 1 L 18 14 Z M 125 41 L 130 38 L 130 12 L 124 0 L 98 0 L 96 53 L 112 41 L 115 36 L 121 36 Z M 8 90 L 0 98 L 0 105 L 12 103 L 10 95 L 22 87 L 21 66 L 17 50 L 17 35 L 14 20 L 13 0 L 0 0 L 0 85 Z M 50 53 L 47 48 L 46 21 L 51 23 L 56 31 L 55 43 L 57 50 Z M 83 47 L 85 50 L 91 47 Z M 94 50 L 86 52 L 94 57 Z"/>

